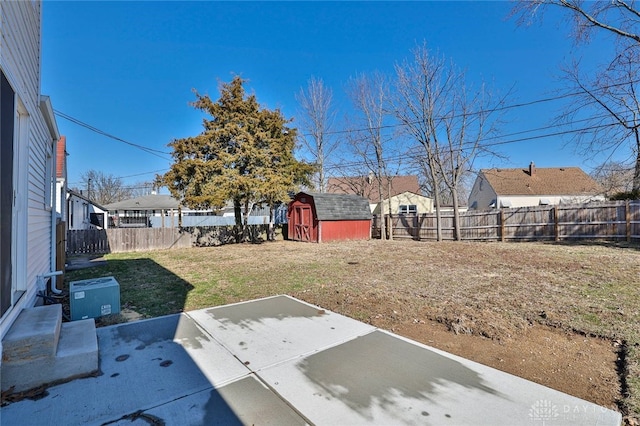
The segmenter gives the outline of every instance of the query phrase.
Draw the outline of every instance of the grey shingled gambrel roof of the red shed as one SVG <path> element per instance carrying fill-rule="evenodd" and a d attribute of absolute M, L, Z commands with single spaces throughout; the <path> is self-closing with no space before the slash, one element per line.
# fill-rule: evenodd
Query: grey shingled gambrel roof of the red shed
<path fill-rule="evenodd" d="M 318 220 L 369 220 L 369 200 L 359 195 L 308 193 L 313 197 Z"/>

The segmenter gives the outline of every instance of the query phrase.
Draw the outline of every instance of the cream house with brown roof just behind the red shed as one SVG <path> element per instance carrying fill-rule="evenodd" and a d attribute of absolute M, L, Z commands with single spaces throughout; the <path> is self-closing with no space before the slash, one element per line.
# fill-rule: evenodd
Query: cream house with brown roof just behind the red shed
<path fill-rule="evenodd" d="M 383 190 L 385 214 L 389 213 L 389 200 L 391 200 L 392 214 L 407 214 L 415 211 L 422 214 L 433 211 L 433 200 L 421 195 L 417 176 L 384 178 L 383 185 L 385 186 Z M 371 212 L 380 213 L 378 183 L 373 175 L 329 178 L 327 193 L 360 195 L 369 200 Z"/>

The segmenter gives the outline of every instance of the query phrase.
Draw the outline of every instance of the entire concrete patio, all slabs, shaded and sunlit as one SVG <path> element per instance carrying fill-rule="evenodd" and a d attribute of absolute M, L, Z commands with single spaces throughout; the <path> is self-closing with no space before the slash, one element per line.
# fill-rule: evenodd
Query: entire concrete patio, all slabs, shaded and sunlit
<path fill-rule="evenodd" d="M 278 296 L 98 329 L 102 374 L 7 425 L 619 425 L 620 413 Z"/>

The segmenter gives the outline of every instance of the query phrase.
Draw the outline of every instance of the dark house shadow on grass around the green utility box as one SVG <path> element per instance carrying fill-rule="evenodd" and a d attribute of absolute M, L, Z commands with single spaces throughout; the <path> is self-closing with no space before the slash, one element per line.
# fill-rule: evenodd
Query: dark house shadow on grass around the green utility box
<path fill-rule="evenodd" d="M 68 270 L 64 291 L 68 294 L 69 284 L 73 281 L 108 276 L 113 276 L 120 285 L 121 313 L 96 318 L 97 326 L 182 312 L 187 295 L 194 288 L 155 261 L 139 258 L 89 263 L 85 268 Z M 68 309 L 67 297 L 63 310 Z"/>

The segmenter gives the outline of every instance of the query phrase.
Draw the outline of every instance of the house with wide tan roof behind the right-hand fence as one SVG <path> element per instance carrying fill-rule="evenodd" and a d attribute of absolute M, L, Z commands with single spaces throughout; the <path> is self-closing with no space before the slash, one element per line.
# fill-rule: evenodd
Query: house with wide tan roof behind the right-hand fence
<path fill-rule="evenodd" d="M 579 167 L 481 170 L 469 209 L 575 204 L 604 201 L 602 188 Z"/>

